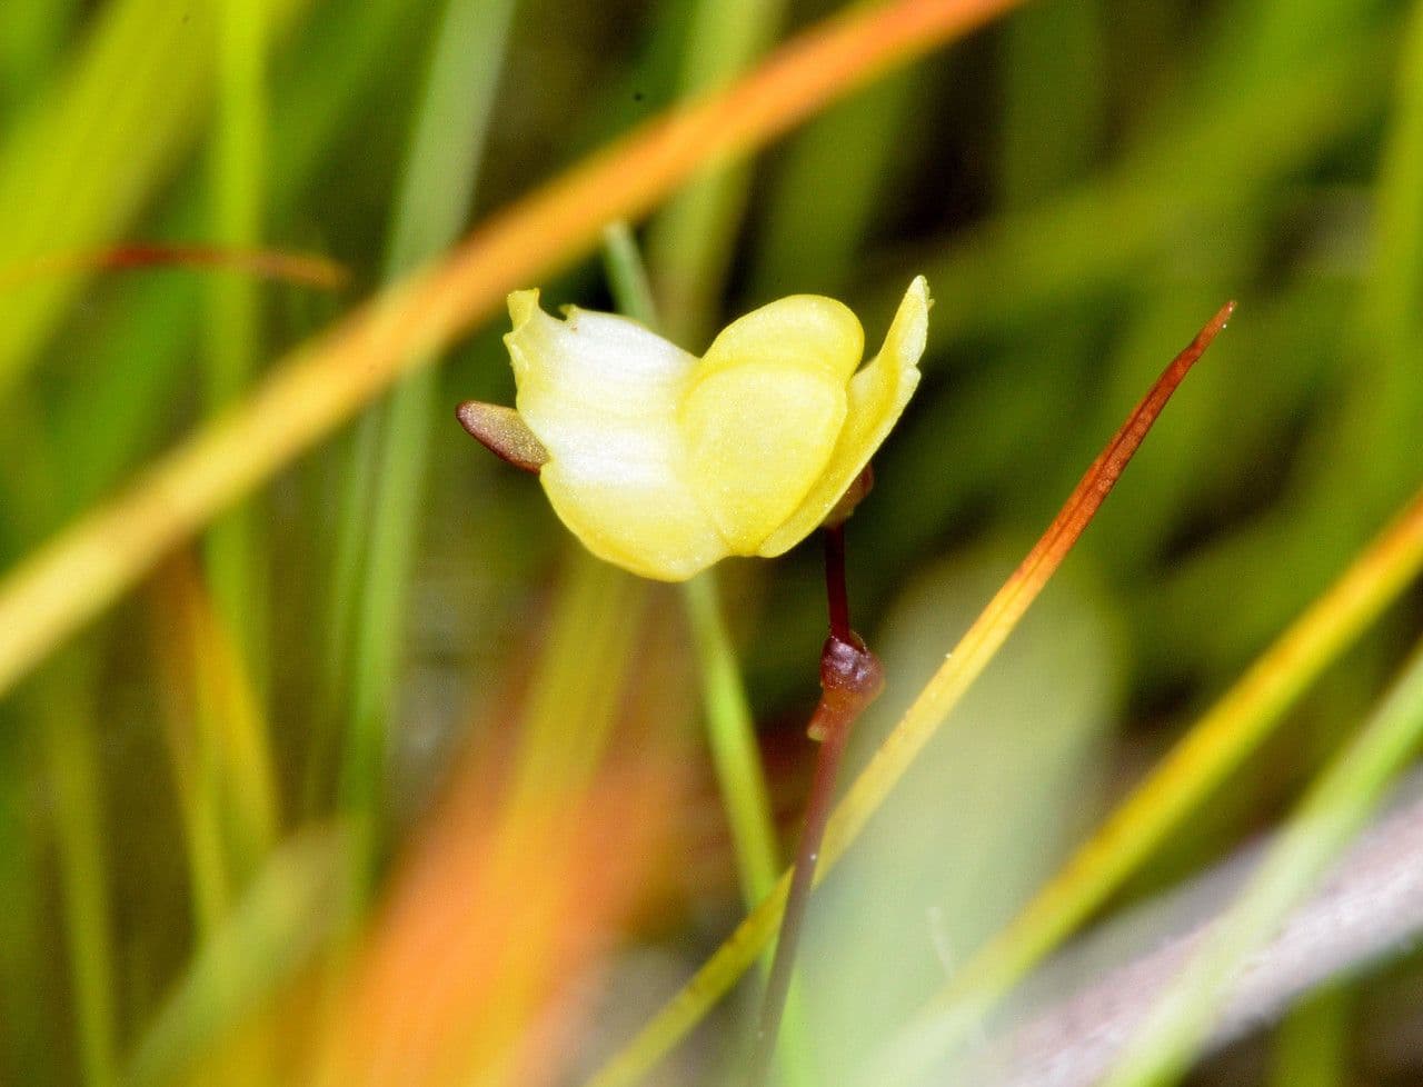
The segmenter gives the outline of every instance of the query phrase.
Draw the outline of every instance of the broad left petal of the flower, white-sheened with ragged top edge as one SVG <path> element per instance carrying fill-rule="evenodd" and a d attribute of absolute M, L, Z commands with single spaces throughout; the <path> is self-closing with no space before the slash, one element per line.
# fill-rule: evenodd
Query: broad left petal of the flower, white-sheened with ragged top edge
<path fill-rule="evenodd" d="M 727 553 L 684 481 L 676 408 L 696 359 L 636 322 L 509 295 L 518 411 L 548 450 L 555 512 L 599 558 L 683 580 Z"/>

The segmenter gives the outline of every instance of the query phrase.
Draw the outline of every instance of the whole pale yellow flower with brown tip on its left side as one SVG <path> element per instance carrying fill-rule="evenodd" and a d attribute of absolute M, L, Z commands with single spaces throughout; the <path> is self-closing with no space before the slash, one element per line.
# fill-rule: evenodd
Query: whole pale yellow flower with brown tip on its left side
<path fill-rule="evenodd" d="M 909 285 L 864 367 L 855 314 L 817 295 L 733 322 L 702 359 L 626 317 L 565 313 L 509 295 L 518 415 L 471 401 L 460 418 L 538 468 L 595 555 L 684 580 L 727 555 L 780 555 L 825 519 L 919 383 L 929 290 Z"/>

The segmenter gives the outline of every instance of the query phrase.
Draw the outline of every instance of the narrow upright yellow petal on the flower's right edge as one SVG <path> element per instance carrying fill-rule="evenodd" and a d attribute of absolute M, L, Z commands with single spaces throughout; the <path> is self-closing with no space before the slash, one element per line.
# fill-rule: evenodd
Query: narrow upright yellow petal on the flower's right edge
<path fill-rule="evenodd" d="M 758 555 L 780 555 L 814 532 L 888 437 L 919 384 L 929 304 L 929 286 L 918 276 L 899 303 L 879 354 L 850 378 L 845 425 L 824 472 L 795 512 L 761 544 Z"/>

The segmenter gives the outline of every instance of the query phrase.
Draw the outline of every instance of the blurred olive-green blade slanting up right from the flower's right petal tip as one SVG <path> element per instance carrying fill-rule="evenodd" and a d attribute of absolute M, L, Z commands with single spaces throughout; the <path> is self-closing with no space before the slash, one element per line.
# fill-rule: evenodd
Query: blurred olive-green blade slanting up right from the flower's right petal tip
<path fill-rule="evenodd" d="M 1308 70 L 1282 74 L 1244 98 L 1221 95 L 1211 108 L 1153 129 L 1138 148 L 1062 198 L 973 226 L 938 252 L 912 253 L 904 267 L 935 285 L 931 350 L 1087 297 L 1201 216 L 1248 205 L 1377 108 L 1390 54 L 1390 43 L 1373 36 L 1331 43 Z M 1183 169 L 1191 162 L 1210 169 Z M 875 309 L 892 310 L 895 289 L 882 285 L 904 275 L 877 277 L 869 292 Z"/>

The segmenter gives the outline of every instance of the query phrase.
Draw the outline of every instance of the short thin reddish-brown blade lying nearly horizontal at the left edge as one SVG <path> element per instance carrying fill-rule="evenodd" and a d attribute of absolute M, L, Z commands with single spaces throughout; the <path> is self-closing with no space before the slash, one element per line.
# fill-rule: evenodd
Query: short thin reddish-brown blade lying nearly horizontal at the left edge
<path fill-rule="evenodd" d="M 95 253 L 44 256 L 23 265 L 11 265 L 0 269 L 0 290 L 10 290 L 40 276 L 57 276 L 67 272 L 124 272 L 145 267 L 212 267 L 246 272 L 262 279 L 300 283 L 320 290 L 337 290 L 350 277 L 343 265 L 314 253 L 144 243 L 104 249 Z"/>

